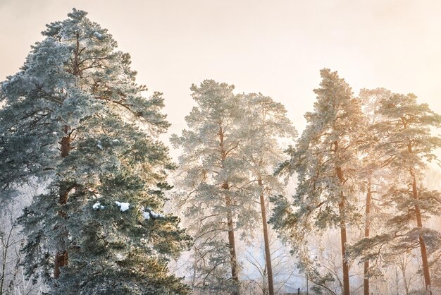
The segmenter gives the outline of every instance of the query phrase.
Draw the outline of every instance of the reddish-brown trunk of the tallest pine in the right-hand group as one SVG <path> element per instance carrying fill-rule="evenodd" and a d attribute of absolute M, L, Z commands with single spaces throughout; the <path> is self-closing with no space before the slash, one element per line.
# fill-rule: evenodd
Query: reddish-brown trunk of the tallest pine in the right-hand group
<path fill-rule="evenodd" d="M 337 177 L 340 183 L 344 182 L 343 171 L 341 167 L 335 169 L 337 171 Z M 343 268 L 343 294 L 349 295 L 349 265 L 346 260 L 346 222 L 344 222 L 345 217 L 345 204 L 344 204 L 344 194 L 340 193 L 340 203 L 338 204 L 338 209 L 340 211 L 340 240 L 342 243 L 342 268 Z"/>

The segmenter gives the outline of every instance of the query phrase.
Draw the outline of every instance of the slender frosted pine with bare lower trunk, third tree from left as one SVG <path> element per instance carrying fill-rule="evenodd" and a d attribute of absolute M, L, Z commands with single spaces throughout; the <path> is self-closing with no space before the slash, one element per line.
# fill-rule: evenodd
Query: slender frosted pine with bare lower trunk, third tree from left
<path fill-rule="evenodd" d="M 297 131 L 287 119 L 285 107 L 271 97 L 261 93 L 251 93 L 245 96 L 245 102 L 247 103 L 245 114 L 249 121 L 242 126 L 247 139 L 243 155 L 247 159 L 247 167 L 253 183 L 249 188 L 260 204 L 268 294 L 274 295 L 266 203 L 269 195 L 277 195 L 284 191 L 282 183 L 273 176 L 276 165 L 286 157 L 278 140 L 293 139 L 297 136 Z"/>

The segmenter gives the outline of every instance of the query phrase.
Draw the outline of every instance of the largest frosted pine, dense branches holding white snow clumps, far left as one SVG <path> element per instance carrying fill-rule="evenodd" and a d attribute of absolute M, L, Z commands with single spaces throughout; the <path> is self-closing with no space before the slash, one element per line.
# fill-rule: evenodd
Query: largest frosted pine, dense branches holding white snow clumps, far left
<path fill-rule="evenodd" d="M 167 261 L 189 239 L 159 213 L 173 168 L 156 139 L 163 98 L 142 96 L 129 54 L 86 15 L 46 25 L 1 85 L 2 193 L 46 186 L 20 218 L 23 265 L 54 294 L 186 294 Z"/>

